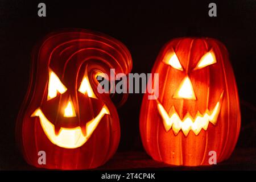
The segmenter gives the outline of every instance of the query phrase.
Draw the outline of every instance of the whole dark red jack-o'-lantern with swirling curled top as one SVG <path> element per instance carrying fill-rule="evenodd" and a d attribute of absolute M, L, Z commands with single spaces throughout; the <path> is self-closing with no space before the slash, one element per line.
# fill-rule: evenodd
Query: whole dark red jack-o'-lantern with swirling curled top
<path fill-rule="evenodd" d="M 16 137 L 28 163 L 53 169 L 104 164 L 119 143 L 118 114 L 97 91 L 99 73 L 129 73 L 122 43 L 88 30 L 49 35 L 35 49 L 31 82 L 18 115 Z M 46 164 L 38 152 L 46 152 Z"/>

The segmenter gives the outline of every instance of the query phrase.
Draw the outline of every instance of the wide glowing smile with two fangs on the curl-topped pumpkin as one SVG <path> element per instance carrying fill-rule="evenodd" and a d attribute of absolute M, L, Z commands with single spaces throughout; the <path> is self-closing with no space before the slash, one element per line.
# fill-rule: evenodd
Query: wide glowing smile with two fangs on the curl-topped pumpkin
<path fill-rule="evenodd" d="M 59 134 L 56 135 L 55 126 L 46 118 L 40 108 L 36 109 L 31 117 L 39 117 L 44 133 L 53 144 L 63 148 L 77 148 L 82 146 L 90 138 L 105 114 L 109 114 L 106 105 L 102 107 L 100 113 L 95 118 L 86 123 L 86 135 L 82 133 L 80 126 L 74 128 L 61 127 Z"/>

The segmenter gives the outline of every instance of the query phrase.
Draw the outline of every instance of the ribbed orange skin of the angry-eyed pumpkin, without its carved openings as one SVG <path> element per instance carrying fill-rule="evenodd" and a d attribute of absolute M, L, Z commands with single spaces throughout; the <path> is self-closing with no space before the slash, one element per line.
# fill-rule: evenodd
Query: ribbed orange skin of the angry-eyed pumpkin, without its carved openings
<path fill-rule="evenodd" d="M 210 50 L 216 63 L 195 69 L 200 58 Z M 172 51 L 183 71 L 163 63 L 165 56 Z M 148 93 L 144 94 L 139 123 L 147 154 L 154 160 L 175 166 L 207 166 L 210 151 L 216 151 L 217 163 L 228 159 L 236 146 L 241 118 L 236 80 L 225 46 L 211 38 L 171 40 L 159 53 L 152 73 L 159 73 L 159 97 L 158 100 L 148 100 Z M 173 97 L 186 76 L 191 80 L 196 100 Z M 154 80 L 152 82 L 154 85 Z M 180 118 L 188 113 L 195 117 L 197 112 L 212 111 L 221 93 L 220 113 L 215 125 L 209 122 L 207 129 L 201 129 L 197 135 L 190 130 L 187 137 L 183 130 L 175 134 L 172 128 L 165 129 L 158 103 L 168 114 L 174 107 Z"/>

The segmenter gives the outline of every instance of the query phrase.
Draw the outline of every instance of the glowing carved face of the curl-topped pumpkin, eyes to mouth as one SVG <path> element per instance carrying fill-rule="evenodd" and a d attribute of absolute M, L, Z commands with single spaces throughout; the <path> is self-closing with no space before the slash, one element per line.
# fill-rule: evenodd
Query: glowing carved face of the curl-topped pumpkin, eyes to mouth
<path fill-rule="evenodd" d="M 70 67 L 71 65 L 68 65 L 66 69 Z M 63 148 L 82 146 L 93 134 L 104 115 L 110 115 L 108 107 L 94 94 L 87 70 L 82 69 L 82 72 L 85 73 L 81 75 L 79 74 L 80 70 L 74 70 L 75 72 L 67 70 L 68 90 L 56 73 L 49 69 L 44 100 L 31 115 L 31 117 L 39 117 L 42 129 L 48 139 Z M 65 73 L 61 75 L 65 75 Z M 63 77 L 65 79 L 65 76 Z M 76 88 L 79 89 L 75 90 Z M 91 110 L 88 109 L 90 105 L 92 106 Z"/>

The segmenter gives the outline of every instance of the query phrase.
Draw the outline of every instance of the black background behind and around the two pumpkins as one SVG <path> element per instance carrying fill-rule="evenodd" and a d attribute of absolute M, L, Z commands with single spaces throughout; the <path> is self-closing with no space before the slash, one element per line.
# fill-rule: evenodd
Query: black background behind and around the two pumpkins
<path fill-rule="evenodd" d="M 44 2 L 47 16 L 38 17 Z M 208 16 L 210 2 L 217 17 Z M 256 147 L 255 7 L 243 1 L 0 1 L 0 168 L 26 166 L 15 145 L 15 120 L 27 91 L 34 45 L 60 28 L 87 28 L 124 43 L 133 73 L 150 73 L 160 48 L 170 39 L 197 35 L 228 48 L 241 101 L 238 148 Z M 142 94 L 130 94 L 118 109 L 118 152 L 143 151 L 139 136 Z"/>

